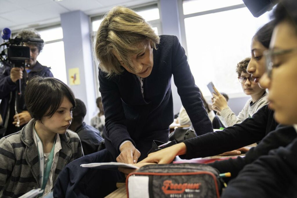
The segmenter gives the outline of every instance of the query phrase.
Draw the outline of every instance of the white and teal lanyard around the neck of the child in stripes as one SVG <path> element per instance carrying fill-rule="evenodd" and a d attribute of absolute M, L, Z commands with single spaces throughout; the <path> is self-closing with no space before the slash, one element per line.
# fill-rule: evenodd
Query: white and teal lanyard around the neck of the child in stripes
<path fill-rule="evenodd" d="M 56 137 L 55 137 L 55 142 L 53 144 L 53 148 L 50 151 L 50 155 L 48 156 L 48 161 L 46 162 L 46 167 L 44 169 L 44 154 L 43 154 L 43 145 L 42 142 L 37 134 L 37 132 L 35 131 L 35 128 L 33 126 L 34 129 L 34 134 L 36 137 L 36 141 L 37 141 L 37 150 L 38 150 L 38 158 L 39 158 L 39 168 L 40 168 L 40 176 L 39 176 L 39 184 L 42 190 L 45 189 L 46 183 L 48 182 L 48 177 L 50 175 L 50 169 L 53 163 L 53 156 L 54 156 L 54 149 L 55 149 L 55 144 L 56 144 Z M 41 194 L 42 195 L 42 194 Z"/>

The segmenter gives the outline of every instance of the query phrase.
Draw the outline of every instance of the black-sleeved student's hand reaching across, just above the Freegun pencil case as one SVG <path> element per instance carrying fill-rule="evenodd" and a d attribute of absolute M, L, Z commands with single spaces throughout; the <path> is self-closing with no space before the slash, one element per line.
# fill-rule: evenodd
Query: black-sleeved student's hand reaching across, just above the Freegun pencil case
<path fill-rule="evenodd" d="M 186 154 L 187 147 L 181 142 L 179 144 L 164 148 L 160 151 L 150 153 L 147 158 L 143 159 L 139 163 L 157 163 L 157 164 L 169 164 L 173 161 L 175 156 Z"/>

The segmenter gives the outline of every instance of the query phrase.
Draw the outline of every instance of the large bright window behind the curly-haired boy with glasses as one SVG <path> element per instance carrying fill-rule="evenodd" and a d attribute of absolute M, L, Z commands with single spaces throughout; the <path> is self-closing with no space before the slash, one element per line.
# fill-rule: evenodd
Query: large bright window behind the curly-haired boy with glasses
<path fill-rule="evenodd" d="M 197 10 L 217 9 L 217 0 L 199 2 L 204 1 L 208 3 L 201 4 Z M 183 2 L 184 12 L 193 12 L 188 5 L 190 1 Z M 223 2 L 220 5 L 230 6 L 232 4 L 227 5 L 227 2 L 236 4 L 238 1 Z M 211 95 L 206 87 L 210 81 L 220 92 L 245 96 L 237 79 L 236 65 L 251 56 L 252 37 L 268 21 L 268 13 L 254 18 L 244 6 L 197 16 L 191 14 L 191 17 L 184 15 L 188 61 L 195 83 L 204 96 Z"/>

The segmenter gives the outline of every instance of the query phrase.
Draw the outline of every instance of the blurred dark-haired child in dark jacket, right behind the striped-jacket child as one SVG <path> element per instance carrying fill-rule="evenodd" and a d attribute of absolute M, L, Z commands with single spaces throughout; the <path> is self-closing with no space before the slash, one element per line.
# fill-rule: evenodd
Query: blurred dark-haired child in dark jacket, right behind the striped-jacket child
<path fill-rule="evenodd" d="M 72 122 L 68 129 L 78 134 L 83 147 L 83 154 L 89 155 L 102 149 L 103 138 L 97 129 L 83 121 L 87 113 L 83 101 L 76 98 L 75 103 L 75 109 L 72 111 Z"/>

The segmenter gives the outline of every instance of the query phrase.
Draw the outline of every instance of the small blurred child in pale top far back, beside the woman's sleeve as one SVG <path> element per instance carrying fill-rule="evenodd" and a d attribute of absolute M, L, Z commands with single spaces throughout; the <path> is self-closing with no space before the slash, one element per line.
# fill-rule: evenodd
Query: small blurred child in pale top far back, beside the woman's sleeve
<path fill-rule="evenodd" d="M 105 115 L 104 115 L 104 111 L 103 111 L 101 97 L 98 97 L 96 99 L 96 104 L 99 109 L 99 112 L 91 119 L 91 126 L 98 129 L 98 131 L 100 132 L 100 135 L 103 137 L 103 128 L 105 125 Z"/>

